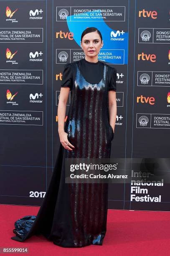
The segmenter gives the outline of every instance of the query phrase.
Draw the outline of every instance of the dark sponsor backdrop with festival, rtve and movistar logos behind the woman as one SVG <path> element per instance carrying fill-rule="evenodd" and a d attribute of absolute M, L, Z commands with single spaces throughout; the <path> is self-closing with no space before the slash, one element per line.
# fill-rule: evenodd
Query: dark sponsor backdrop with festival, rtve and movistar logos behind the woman
<path fill-rule="evenodd" d="M 57 108 L 64 64 L 84 58 L 81 33 L 96 27 L 104 40 L 99 60 L 117 69 L 111 157 L 149 166 L 145 172 L 125 168 L 129 184 L 109 184 L 109 209 L 170 211 L 169 1 L 85 5 L 0 1 L 0 203 L 41 205 L 60 146 Z M 66 118 L 69 105 L 70 97 Z M 157 160 L 159 180 L 146 182 Z"/>

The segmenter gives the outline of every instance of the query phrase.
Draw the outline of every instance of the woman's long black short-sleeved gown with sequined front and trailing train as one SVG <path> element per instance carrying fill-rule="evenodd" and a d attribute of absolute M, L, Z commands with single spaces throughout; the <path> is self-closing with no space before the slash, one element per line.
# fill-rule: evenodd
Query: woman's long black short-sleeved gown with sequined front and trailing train
<path fill-rule="evenodd" d="M 108 91 L 116 91 L 116 74 L 115 68 L 101 61 L 82 59 L 65 65 L 61 87 L 71 89 L 65 131 L 75 148 L 69 151 L 60 144 L 38 214 L 15 221 L 13 240 L 23 242 L 43 234 L 62 247 L 102 245 L 107 230 L 108 184 L 65 183 L 65 159 L 110 158 L 114 132 L 109 124 Z"/>

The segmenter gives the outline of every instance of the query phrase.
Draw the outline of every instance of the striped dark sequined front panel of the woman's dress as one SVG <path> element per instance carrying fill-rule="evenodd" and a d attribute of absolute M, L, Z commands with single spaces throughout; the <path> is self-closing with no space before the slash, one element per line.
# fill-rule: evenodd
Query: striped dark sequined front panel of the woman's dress
<path fill-rule="evenodd" d="M 86 81 L 77 64 L 65 131 L 75 146 L 68 158 L 110 158 L 107 66 L 98 84 Z M 107 223 L 108 184 L 69 184 L 75 246 L 102 244 Z"/>

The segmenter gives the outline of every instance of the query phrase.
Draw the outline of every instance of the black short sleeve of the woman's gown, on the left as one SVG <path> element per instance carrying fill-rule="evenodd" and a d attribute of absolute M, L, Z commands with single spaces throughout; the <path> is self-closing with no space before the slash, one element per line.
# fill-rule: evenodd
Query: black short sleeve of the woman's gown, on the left
<path fill-rule="evenodd" d="M 72 90 L 72 84 L 73 84 L 73 72 L 71 69 L 71 64 L 67 63 L 64 65 L 61 87 L 70 87 L 70 90 Z"/>

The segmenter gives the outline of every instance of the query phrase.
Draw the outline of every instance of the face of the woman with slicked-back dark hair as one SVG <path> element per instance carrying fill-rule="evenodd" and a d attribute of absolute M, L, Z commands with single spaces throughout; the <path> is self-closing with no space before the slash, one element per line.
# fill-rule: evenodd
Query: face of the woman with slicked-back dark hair
<path fill-rule="evenodd" d="M 103 40 L 101 42 L 101 38 L 96 31 L 87 33 L 82 38 L 81 48 L 84 50 L 84 53 L 89 57 L 94 57 L 99 54 L 102 46 Z"/>

